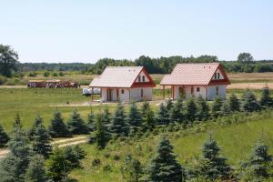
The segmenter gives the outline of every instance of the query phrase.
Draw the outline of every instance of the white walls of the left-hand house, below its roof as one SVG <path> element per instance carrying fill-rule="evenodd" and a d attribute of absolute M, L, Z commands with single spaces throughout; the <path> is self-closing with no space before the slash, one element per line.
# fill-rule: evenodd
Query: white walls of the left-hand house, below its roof
<path fill-rule="evenodd" d="M 107 94 L 108 93 L 108 94 Z M 108 95 L 108 96 L 107 96 Z M 152 100 L 152 87 L 135 87 L 135 88 L 102 88 L 101 101 L 140 101 Z"/>

